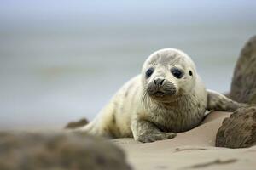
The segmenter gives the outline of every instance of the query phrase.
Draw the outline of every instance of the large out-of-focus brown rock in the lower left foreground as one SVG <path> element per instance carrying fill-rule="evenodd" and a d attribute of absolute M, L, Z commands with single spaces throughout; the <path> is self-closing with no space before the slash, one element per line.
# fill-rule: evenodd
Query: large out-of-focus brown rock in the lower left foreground
<path fill-rule="evenodd" d="M 1 170 L 131 169 L 117 146 L 79 134 L 0 133 Z"/>

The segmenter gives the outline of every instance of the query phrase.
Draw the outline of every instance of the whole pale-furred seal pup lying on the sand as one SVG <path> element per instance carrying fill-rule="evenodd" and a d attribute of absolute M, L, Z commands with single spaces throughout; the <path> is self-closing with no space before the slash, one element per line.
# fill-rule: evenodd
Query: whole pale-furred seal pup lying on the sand
<path fill-rule="evenodd" d="M 187 54 L 164 48 L 151 54 L 142 73 L 126 82 L 96 119 L 78 131 L 154 142 L 198 126 L 206 110 L 235 111 L 241 105 L 206 90 Z"/>

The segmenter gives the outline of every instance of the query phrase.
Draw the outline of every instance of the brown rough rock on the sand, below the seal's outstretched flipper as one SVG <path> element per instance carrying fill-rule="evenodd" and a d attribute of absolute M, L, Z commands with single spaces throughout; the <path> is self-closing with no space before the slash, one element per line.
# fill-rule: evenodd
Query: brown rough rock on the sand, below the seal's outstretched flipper
<path fill-rule="evenodd" d="M 241 108 L 225 118 L 218 129 L 216 146 L 244 148 L 256 144 L 256 106 Z"/>

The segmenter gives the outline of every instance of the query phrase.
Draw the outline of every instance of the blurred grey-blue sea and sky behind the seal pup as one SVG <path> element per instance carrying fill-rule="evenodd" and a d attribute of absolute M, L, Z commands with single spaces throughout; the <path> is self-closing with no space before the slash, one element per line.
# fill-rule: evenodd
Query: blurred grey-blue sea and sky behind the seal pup
<path fill-rule="evenodd" d="M 0 129 L 90 120 L 160 48 L 180 48 L 227 92 L 256 33 L 252 0 L 0 0 Z"/>

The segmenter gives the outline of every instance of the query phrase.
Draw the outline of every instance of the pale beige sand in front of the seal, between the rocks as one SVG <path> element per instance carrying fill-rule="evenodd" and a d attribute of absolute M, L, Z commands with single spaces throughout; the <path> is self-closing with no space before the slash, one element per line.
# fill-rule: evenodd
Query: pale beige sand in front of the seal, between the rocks
<path fill-rule="evenodd" d="M 228 112 L 214 111 L 201 126 L 178 133 L 174 139 L 142 144 L 134 139 L 113 139 L 136 170 L 232 169 L 255 170 L 256 146 L 247 149 L 214 147 L 218 127 Z"/>

